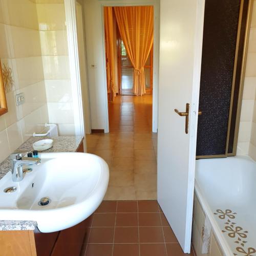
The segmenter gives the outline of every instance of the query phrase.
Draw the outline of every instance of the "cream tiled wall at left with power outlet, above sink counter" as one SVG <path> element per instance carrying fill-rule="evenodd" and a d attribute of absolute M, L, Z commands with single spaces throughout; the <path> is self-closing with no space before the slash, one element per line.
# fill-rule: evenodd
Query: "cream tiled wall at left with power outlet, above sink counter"
<path fill-rule="evenodd" d="M 0 58 L 12 69 L 14 87 L 7 92 L 8 113 L 0 116 L 0 162 L 40 133 L 49 122 L 36 4 L 0 0 Z M 16 106 L 23 92 L 25 103 Z"/>

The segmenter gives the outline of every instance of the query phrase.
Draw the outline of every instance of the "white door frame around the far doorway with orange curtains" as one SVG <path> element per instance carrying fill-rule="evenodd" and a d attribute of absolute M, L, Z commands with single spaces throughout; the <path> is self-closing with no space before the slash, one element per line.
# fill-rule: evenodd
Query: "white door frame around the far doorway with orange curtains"
<path fill-rule="evenodd" d="M 101 20 L 102 20 L 102 44 L 103 53 L 105 53 L 105 31 L 104 31 L 104 7 L 105 6 L 147 6 L 154 7 L 154 41 L 153 41 L 153 108 L 152 108 L 152 132 L 157 133 L 158 129 L 158 69 L 159 69 L 159 1 L 157 0 L 130 0 L 129 2 L 124 0 L 103 0 L 101 2 Z M 106 82 L 106 60 L 103 55 L 103 68 L 104 68 L 104 90 L 105 90 L 105 133 L 109 133 L 109 113 L 108 113 L 108 92 Z"/>

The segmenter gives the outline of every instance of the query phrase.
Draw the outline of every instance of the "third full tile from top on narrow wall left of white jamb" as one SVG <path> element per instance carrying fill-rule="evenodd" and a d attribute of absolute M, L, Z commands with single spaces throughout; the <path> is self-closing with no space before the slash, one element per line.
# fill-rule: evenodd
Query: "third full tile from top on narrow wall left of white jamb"
<path fill-rule="evenodd" d="M 42 56 L 45 79 L 69 79 L 68 56 Z"/>

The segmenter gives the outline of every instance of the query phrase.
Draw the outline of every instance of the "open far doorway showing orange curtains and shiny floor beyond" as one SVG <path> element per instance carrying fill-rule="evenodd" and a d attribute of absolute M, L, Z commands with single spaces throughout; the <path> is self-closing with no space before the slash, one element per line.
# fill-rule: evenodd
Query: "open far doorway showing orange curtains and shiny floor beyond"
<path fill-rule="evenodd" d="M 104 7 L 110 132 L 152 132 L 153 16 L 153 6 Z"/>

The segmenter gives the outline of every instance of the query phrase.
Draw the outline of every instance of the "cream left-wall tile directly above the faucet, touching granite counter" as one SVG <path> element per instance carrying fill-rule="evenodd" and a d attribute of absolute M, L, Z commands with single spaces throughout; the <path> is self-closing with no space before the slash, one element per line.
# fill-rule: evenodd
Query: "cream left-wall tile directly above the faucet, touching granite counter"
<path fill-rule="evenodd" d="M 10 151 L 14 152 L 17 147 L 22 143 L 22 131 L 20 128 L 20 123 L 16 122 L 7 128 L 8 141 L 10 146 Z"/>

